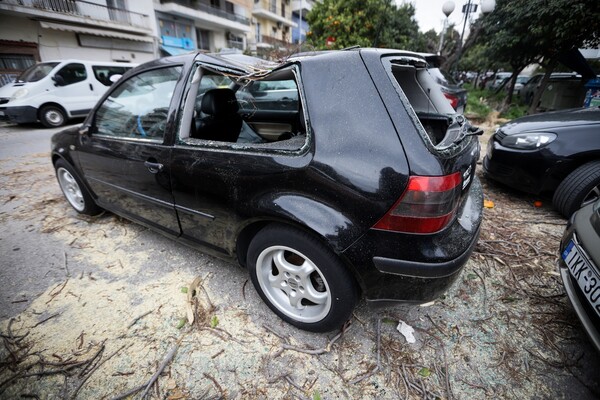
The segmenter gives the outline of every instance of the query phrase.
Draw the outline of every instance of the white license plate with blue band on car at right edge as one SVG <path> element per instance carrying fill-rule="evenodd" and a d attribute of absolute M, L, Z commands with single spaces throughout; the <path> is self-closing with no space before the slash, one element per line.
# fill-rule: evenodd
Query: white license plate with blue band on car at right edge
<path fill-rule="evenodd" d="M 575 278 L 583 291 L 584 296 L 596 311 L 596 314 L 600 316 L 600 276 L 592 267 L 592 263 L 573 241 L 570 241 L 563 251 L 562 258 L 569 267 L 571 276 Z"/>

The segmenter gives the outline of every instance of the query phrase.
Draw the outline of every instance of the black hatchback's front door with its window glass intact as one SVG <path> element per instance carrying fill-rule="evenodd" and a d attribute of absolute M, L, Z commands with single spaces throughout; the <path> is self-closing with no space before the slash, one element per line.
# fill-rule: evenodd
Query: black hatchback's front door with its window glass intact
<path fill-rule="evenodd" d="M 98 204 L 179 235 L 171 195 L 167 117 L 181 66 L 131 76 L 100 104 L 81 135 L 79 162 Z"/>

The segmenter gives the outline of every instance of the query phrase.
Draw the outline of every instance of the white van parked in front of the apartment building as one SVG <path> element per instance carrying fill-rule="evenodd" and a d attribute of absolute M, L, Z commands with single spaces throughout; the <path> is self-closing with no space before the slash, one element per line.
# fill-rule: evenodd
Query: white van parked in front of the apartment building
<path fill-rule="evenodd" d="M 98 99 L 137 64 L 82 60 L 38 63 L 0 87 L 0 118 L 17 124 L 40 121 L 51 128 L 85 117 Z"/>

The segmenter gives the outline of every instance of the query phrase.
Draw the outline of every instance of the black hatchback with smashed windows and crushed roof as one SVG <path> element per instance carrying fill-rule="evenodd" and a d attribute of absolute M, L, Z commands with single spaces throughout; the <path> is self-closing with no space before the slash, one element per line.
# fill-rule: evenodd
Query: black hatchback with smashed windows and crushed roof
<path fill-rule="evenodd" d="M 237 101 L 262 81 L 293 85 L 294 107 Z M 281 318 L 328 331 L 361 294 L 424 302 L 457 278 L 482 217 L 476 133 L 414 53 L 189 54 L 128 72 L 54 135 L 52 163 L 78 212 L 239 262 Z"/>

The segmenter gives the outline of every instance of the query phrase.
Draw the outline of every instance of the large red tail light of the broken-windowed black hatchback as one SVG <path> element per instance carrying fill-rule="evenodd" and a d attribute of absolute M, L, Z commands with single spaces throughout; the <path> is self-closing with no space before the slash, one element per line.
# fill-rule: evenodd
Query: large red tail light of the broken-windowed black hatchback
<path fill-rule="evenodd" d="M 411 176 L 400 199 L 373 228 L 410 233 L 434 233 L 444 229 L 456 215 L 461 182 L 460 172 Z"/>

